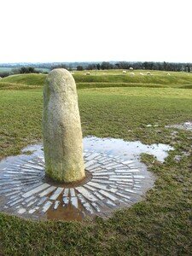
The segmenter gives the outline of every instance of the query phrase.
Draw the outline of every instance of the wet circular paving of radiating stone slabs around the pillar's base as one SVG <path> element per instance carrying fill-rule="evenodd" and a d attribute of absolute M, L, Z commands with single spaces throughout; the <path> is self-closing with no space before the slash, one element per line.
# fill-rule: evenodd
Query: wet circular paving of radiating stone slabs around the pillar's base
<path fill-rule="evenodd" d="M 81 183 L 52 183 L 44 172 L 41 145 L 31 155 L 0 164 L 0 211 L 24 218 L 77 219 L 108 216 L 141 200 L 154 179 L 137 161 L 84 151 L 86 178 Z"/>

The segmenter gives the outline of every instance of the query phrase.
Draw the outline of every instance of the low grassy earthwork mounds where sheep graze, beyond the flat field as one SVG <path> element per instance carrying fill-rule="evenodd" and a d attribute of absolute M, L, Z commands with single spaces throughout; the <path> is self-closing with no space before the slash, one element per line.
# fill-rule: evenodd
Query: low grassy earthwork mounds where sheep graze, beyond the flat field
<path fill-rule="evenodd" d="M 172 72 L 168 75 L 162 71 L 151 71 L 151 74 L 148 75 L 148 71 L 143 70 L 134 71 L 134 75 L 131 75 L 132 71 L 124 74 L 122 70 L 90 71 L 90 75 L 85 73 L 86 71 L 73 72 L 79 89 L 106 87 L 192 88 L 192 73 Z M 25 84 L 25 88 L 30 85 L 28 89 L 32 89 L 32 86 L 41 87 L 45 78 L 45 74 L 12 75 L 0 80 L 0 89 L 21 89 L 23 84 Z"/>

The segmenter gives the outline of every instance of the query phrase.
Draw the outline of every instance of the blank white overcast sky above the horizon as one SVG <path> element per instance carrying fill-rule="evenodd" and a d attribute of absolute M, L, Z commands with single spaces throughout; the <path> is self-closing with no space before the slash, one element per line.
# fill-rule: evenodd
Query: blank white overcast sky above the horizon
<path fill-rule="evenodd" d="M 191 0 L 1 0 L 0 62 L 192 62 Z"/>

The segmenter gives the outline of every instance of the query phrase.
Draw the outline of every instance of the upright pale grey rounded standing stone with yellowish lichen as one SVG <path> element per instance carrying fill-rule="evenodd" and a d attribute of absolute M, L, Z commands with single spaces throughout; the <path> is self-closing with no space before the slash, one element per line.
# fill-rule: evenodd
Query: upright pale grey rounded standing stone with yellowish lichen
<path fill-rule="evenodd" d="M 83 141 L 76 84 L 66 69 L 51 71 L 44 84 L 45 172 L 71 183 L 84 178 Z"/>

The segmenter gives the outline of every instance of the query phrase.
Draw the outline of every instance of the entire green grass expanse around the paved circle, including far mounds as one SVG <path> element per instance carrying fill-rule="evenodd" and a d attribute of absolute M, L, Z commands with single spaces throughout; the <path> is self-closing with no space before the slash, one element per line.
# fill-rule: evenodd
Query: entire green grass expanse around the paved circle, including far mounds
<path fill-rule="evenodd" d="M 179 89 L 191 88 L 192 74 L 151 72 L 153 76 L 145 77 L 141 72 L 133 78 L 119 71 L 73 76 L 81 89 L 84 136 L 175 148 L 163 164 L 143 154 L 143 162 L 157 177 L 145 200 L 111 218 L 83 223 L 33 223 L 0 213 L 0 255 L 192 255 L 192 134 L 165 128 L 192 120 L 192 90 Z M 40 74 L 1 79 L 1 157 L 42 141 L 44 79 Z"/>

